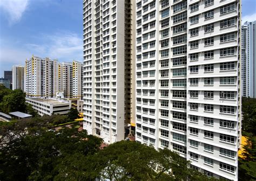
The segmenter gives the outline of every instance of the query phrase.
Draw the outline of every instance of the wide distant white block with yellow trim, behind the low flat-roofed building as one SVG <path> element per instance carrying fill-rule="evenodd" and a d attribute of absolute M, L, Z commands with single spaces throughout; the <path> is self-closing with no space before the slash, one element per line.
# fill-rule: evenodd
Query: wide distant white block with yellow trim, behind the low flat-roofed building
<path fill-rule="evenodd" d="M 26 60 L 24 91 L 28 97 L 54 97 L 58 91 L 58 61 L 33 55 Z"/>

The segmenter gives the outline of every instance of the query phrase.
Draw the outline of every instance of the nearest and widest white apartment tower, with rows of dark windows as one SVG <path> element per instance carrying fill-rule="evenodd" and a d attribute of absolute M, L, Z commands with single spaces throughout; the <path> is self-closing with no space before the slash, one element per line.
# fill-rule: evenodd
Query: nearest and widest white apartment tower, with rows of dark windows
<path fill-rule="evenodd" d="M 136 0 L 136 140 L 230 180 L 238 180 L 240 5 Z"/>

